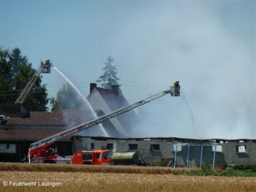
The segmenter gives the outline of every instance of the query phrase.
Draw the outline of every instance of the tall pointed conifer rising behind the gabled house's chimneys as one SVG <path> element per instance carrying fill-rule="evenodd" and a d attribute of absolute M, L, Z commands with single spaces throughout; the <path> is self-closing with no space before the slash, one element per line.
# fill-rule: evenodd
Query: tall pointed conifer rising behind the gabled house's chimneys
<path fill-rule="evenodd" d="M 97 82 L 102 82 L 102 87 L 106 89 L 111 89 L 111 85 L 119 85 L 118 80 L 120 78 L 117 78 L 117 68 L 116 66 L 112 66 L 111 63 L 114 62 L 114 59 L 111 58 L 111 56 L 108 56 L 107 62 L 104 62 L 105 67 L 103 69 L 103 75 L 99 77 Z M 121 85 L 119 85 L 120 87 Z"/>

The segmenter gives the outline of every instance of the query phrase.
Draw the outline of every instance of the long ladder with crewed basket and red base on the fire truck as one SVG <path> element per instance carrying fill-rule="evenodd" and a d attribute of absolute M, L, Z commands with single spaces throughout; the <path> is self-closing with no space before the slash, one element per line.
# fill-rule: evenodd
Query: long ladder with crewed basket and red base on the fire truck
<path fill-rule="evenodd" d="M 29 155 L 34 155 L 35 157 L 38 156 L 39 151 L 42 149 L 45 149 L 46 147 L 52 145 L 53 142 L 58 141 L 62 138 L 68 137 L 69 135 L 73 135 L 79 131 L 84 131 L 89 129 L 90 127 L 94 125 L 98 125 L 102 123 L 103 121 L 106 121 L 107 119 L 113 118 L 117 115 L 121 115 L 123 113 L 126 113 L 127 111 L 134 109 L 136 107 L 139 107 L 141 105 L 144 105 L 145 103 L 148 103 L 149 101 L 152 101 L 154 99 L 157 99 L 159 97 L 162 97 L 166 94 L 170 93 L 173 97 L 179 97 L 180 96 L 180 85 L 179 81 L 173 83 L 173 86 L 170 86 L 169 90 L 159 92 L 151 97 L 148 97 L 146 99 L 140 100 L 138 102 L 135 102 L 129 106 L 123 107 L 121 109 L 115 110 L 111 113 L 108 113 L 107 115 L 103 115 L 101 117 L 95 118 L 89 122 L 83 123 L 81 125 L 77 125 L 75 127 L 72 127 L 71 129 L 62 131 L 58 134 L 54 134 L 51 137 L 47 137 L 45 139 L 39 140 L 37 142 L 31 143 L 29 148 Z M 30 163 L 30 158 L 29 158 Z"/>

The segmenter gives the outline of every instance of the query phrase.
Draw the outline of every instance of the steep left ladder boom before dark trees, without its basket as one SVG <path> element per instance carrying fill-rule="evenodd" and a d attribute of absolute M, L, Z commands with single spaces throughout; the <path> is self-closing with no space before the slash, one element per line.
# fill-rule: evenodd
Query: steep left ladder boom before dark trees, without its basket
<path fill-rule="evenodd" d="M 39 77 L 39 75 L 41 74 L 41 72 L 42 72 L 42 68 L 41 68 L 41 64 L 40 64 L 39 67 L 37 68 L 36 72 L 34 73 L 34 75 L 30 78 L 29 82 L 23 89 L 23 91 L 20 93 L 20 95 L 19 95 L 18 99 L 15 101 L 15 103 L 23 104 L 23 102 L 27 98 L 29 92 L 34 87 L 36 80 Z"/>

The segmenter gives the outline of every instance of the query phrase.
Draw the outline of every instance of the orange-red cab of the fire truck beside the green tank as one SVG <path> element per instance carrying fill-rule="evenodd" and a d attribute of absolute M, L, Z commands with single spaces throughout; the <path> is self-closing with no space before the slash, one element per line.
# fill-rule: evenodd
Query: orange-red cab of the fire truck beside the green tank
<path fill-rule="evenodd" d="M 85 165 L 110 165 L 113 164 L 113 159 L 108 157 L 108 150 L 82 150 L 76 151 L 71 163 Z"/>

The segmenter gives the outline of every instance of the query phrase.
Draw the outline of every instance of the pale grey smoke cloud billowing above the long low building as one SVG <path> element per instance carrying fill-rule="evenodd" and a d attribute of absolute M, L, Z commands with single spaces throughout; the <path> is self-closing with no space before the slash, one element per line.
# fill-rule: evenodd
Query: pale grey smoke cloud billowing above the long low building
<path fill-rule="evenodd" d="M 148 6 L 126 21 L 121 36 L 129 37 L 122 42 L 123 52 L 136 63 L 125 73 L 135 70 L 132 76 L 137 75 L 137 82 L 158 84 L 161 89 L 178 79 L 196 130 L 182 96 L 163 97 L 139 109 L 145 114 L 138 135 L 254 139 L 255 46 L 251 49 L 209 6 L 183 5 L 180 9 Z M 143 89 L 136 94 L 142 95 Z"/>

